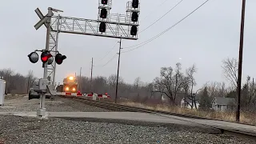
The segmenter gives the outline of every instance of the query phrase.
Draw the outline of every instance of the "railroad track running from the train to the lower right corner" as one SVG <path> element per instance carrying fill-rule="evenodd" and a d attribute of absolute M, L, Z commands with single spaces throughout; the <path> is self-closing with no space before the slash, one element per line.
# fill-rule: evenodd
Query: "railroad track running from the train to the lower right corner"
<path fill-rule="evenodd" d="M 206 120 L 215 120 L 215 121 L 223 121 L 223 122 L 229 122 L 225 120 L 219 120 L 219 119 L 214 119 L 214 118 L 203 118 L 203 117 L 198 117 L 194 115 L 189 115 L 189 114 L 177 114 L 177 113 L 171 113 L 167 111 L 160 111 L 160 110 L 150 110 L 150 109 L 145 109 L 145 108 L 140 108 L 140 107 L 135 107 L 135 106 L 124 106 L 112 102 L 102 102 L 98 100 L 91 100 L 87 98 L 80 98 L 80 97 L 75 97 L 75 96 L 60 96 L 61 98 L 70 98 L 74 101 L 78 102 L 83 102 L 86 105 L 90 106 L 97 106 L 106 110 L 114 110 L 114 111 L 129 111 L 129 112 L 142 112 L 142 113 L 148 113 L 148 114 L 166 114 L 166 115 L 174 115 L 182 118 L 198 118 L 198 119 L 206 119 Z M 234 123 L 239 123 L 239 122 L 234 122 Z M 202 124 L 202 123 L 198 123 Z M 243 124 L 243 123 L 239 123 Z M 203 125 L 203 124 L 202 124 Z M 243 125 L 248 125 L 248 124 L 243 124 Z M 208 125 L 206 125 L 208 126 Z M 248 126 L 254 126 L 254 125 L 248 125 Z M 229 134 L 233 136 L 238 136 L 242 138 L 250 138 L 256 140 L 256 134 L 250 133 L 250 132 L 244 132 L 244 131 L 238 131 L 238 130 L 230 130 L 226 128 L 222 128 L 219 126 L 210 126 L 215 129 L 221 130 L 222 134 Z"/>

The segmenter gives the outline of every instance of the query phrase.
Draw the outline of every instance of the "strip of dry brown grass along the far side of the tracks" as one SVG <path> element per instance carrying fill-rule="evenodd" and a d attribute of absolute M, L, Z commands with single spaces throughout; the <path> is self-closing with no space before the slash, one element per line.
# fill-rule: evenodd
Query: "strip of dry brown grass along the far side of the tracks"
<path fill-rule="evenodd" d="M 164 104 L 152 105 L 152 104 L 142 104 L 138 102 L 119 102 L 119 104 L 125 105 L 125 106 L 141 107 L 141 108 L 146 108 L 150 110 L 161 110 L 161 111 L 167 111 L 167 112 L 177 113 L 177 114 L 190 114 L 190 115 L 196 115 L 204 118 L 214 118 L 214 119 L 221 119 L 221 120 L 226 120 L 230 122 L 235 122 L 234 112 L 190 110 L 190 109 L 181 108 L 178 106 L 167 106 Z M 256 125 L 256 114 L 249 113 L 249 112 L 242 112 L 240 121 L 242 123 Z"/>

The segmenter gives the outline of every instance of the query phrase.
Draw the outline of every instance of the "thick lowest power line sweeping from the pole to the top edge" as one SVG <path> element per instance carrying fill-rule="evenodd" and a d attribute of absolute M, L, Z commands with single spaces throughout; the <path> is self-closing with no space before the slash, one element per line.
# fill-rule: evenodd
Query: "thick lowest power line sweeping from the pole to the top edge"
<path fill-rule="evenodd" d="M 206 0 L 206 2 L 209 2 L 210 0 Z M 139 43 L 138 45 L 135 45 L 137 47 L 135 47 L 134 49 L 131 49 L 131 50 L 127 50 L 127 51 L 124 51 L 122 53 L 127 53 L 127 52 L 130 52 L 132 50 L 136 50 L 142 46 L 145 46 L 146 44 L 148 44 L 149 42 L 152 42 L 154 41 L 154 39 L 156 38 L 159 38 L 162 34 L 165 34 L 167 31 L 171 30 L 172 28 L 174 28 L 175 26 L 177 26 L 180 22 L 182 22 L 183 20 L 185 20 L 186 18 L 188 18 L 191 14 L 193 14 L 196 10 L 198 10 L 200 7 L 204 6 L 206 4 L 206 2 L 203 2 L 202 5 L 198 6 L 195 10 L 193 10 L 192 12 L 190 12 L 190 14 L 187 14 L 186 17 L 182 18 L 180 21 L 176 22 L 173 26 L 170 26 L 168 29 L 162 31 L 162 33 L 154 36 L 153 38 L 150 38 L 148 40 L 146 40 L 145 42 L 142 42 L 142 43 Z M 141 46 L 139 46 L 141 45 Z M 134 47 L 134 46 L 130 46 L 130 47 Z"/>

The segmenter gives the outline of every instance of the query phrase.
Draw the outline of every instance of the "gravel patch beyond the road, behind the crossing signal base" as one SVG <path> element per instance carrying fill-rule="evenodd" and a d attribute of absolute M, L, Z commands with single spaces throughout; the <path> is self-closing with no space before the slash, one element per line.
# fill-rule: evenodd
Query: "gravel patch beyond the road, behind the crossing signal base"
<path fill-rule="evenodd" d="M 0 112 L 35 111 L 40 105 L 39 99 L 28 100 L 28 96 L 6 97 L 5 106 L 0 107 Z M 55 97 L 53 101 L 46 99 L 46 110 L 50 112 L 80 111 L 80 112 L 106 112 L 110 110 L 88 106 L 82 102 L 72 101 L 66 98 Z"/>

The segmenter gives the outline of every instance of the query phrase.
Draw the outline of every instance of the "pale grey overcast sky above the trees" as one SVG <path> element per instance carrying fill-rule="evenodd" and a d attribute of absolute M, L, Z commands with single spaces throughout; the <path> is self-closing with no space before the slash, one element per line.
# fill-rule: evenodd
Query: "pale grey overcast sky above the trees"
<path fill-rule="evenodd" d="M 180 0 L 141 0 L 139 30 L 150 26 L 166 11 Z M 154 37 L 166 28 L 178 22 L 205 0 L 184 0 L 176 9 L 138 35 L 138 41 L 124 40 L 122 46 L 133 46 Z M 111 13 L 125 14 L 127 0 L 113 0 Z M 35 76 L 42 77 L 42 64 L 32 64 L 27 54 L 35 49 L 44 49 L 46 28 L 34 30 L 39 18 L 34 10 L 38 7 L 46 14 L 47 7 L 63 10 L 61 15 L 97 19 L 98 0 L 5 0 L 0 5 L 0 69 L 11 68 L 20 74 L 34 70 Z M 255 73 L 256 52 L 256 1 L 247 0 L 246 26 L 243 61 L 243 81 L 246 75 Z M 198 73 L 195 75 L 198 86 L 208 81 L 224 82 L 222 71 L 224 58 L 238 58 L 239 32 L 242 0 L 210 0 L 205 6 L 192 14 L 174 29 L 161 37 L 142 46 L 138 50 L 121 55 L 120 76 L 126 82 L 134 82 L 140 77 L 144 82 L 151 82 L 159 76 L 162 66 L 175 66 L 181 62 L 182 68 L 195 64 Z M 151 14 L 149 17 L 146 17 Z M 118 42 L 114 38 L 99 38 L 86 35 L 60 34 L 58 50 L 66 54 L 67 59 L 58 66 L 57 80 L 62 82 L 67 74 L 90 76 L 90 61 L 94 58 L 94 76 L 109 76 L 117 73 L 118 57 L 104 65 L 118 52 L 118 46 L 102 61 L 99 61 Z M 127 49 L 128 50 L 128 49 Z M 97 66 L 97 67 L 96 67 Z"/>

